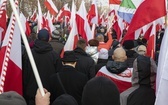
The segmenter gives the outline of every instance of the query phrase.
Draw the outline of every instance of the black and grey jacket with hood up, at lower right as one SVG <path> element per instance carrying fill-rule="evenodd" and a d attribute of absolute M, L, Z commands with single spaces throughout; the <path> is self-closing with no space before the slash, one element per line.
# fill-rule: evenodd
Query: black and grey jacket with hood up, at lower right
<path fill-rule="evenodd" d="M 156 64 L 139 55 L 133 64 L 132 87 L 120 94 L 121 105 L 154 105 Z"/>

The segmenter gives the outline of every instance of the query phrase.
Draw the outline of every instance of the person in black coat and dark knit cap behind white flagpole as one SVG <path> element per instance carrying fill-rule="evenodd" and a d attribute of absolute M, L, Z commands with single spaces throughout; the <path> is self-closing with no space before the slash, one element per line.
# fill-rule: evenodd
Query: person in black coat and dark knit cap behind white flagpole
<path fill-rule="evenodd" d="M 49 32 L 42 29 L 34 43 L 32 54 L 44 88 L 49 89 L 49 77 L 62 69 L 59 55 L 53 51 L 48 43 Z M 35 105 L 35 94 L 38 86 L 30 62 L 24 64 L 23 69 L 23 96 L 28 105 Z"/>

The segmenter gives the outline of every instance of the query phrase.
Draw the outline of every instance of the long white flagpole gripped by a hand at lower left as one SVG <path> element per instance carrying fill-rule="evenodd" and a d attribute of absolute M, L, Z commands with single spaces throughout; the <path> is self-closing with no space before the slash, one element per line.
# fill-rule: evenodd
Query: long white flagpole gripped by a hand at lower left
<path fill-rule="evenodd" d="M 28 42 L 27 42 L 27 38 L 26 38 L 25 32 L 24 32 L 24 30 L 23 30 L 23 28 L 22 28 L 22 24 L 21 24 L 21 22 L 20 22 L 19 15 L 18 15 L 17 10 L 16 10 L 16 8 L 15 8 L 15 3 L 14 3 L 13 0 L 9 0 L 9 1 L 10 1 L 12 10 L 13 10 L 15 16 L 16 16 L 16 21 L 18 22 L 18 25 L 19 25 L 19 28 L 20 28 L 20 31 L 21 31 L 21 36 L 22 36 L 22 39 L 23 39 L 23 42 L 24 42 L 24 45 L 25 45 L 25 48 L 26 48 L 28 57 L 29 57 L 29 59 L 30 59 L 31 66 L 32 66 L 32 68 L 33 68 L 33 72 L 34 72 L 34 75 L 35 75 L 35 78 L 36 78 L 36 81 L 37 81 L 37 85 L 38 85 L 38 87 L 39 87 L 39 89 L 40 89 L 40 92 L 41 92 L 42 96 L 44 96 L 45 93 L 44 93 L 43 85 L 42 85 L 42 82 L 41 82 L 39 73 L 38 73 L 38 71 L 37 71 L 37 67 L 36 67 L 36 64 L 35 64 L 33 55 L 32 55 L 32 53 L 31 53 L 29 44 L 28 44 Z"/>

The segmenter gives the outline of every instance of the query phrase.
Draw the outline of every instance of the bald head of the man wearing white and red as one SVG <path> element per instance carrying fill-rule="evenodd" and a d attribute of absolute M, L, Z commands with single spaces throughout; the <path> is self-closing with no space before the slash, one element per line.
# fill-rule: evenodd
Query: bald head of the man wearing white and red
<path fill-rule="evenodd" d="M 126 52 L 122 47 L 116 48 L 112 55 L 112 59 L 118 62 L 124 62 L 127 59 Z"/>

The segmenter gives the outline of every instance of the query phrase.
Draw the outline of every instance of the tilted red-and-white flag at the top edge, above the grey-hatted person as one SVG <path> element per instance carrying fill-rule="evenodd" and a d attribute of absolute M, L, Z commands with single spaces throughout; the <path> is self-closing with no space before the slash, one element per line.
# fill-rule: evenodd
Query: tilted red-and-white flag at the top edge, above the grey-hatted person
<path fill-rule="evenodd" d="M 50 11 L 52 15 L 55 16 L 58 13 L 58 9 L 52 0 L 45 0 L 44 5 L 47 7 L 47 9 Z"/>

